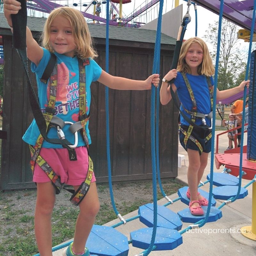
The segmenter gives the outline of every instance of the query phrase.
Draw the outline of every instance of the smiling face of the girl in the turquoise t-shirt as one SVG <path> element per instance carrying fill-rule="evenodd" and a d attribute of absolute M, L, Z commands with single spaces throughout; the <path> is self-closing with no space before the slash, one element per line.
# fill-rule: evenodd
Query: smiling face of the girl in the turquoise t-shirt
<path fill-rule="evenodd" d="M 74 57 L 76 45 L 69 20 L 61 15 L 56 16 L 52 21 L 50 30 L 52 49 L 68 57 Z"/>

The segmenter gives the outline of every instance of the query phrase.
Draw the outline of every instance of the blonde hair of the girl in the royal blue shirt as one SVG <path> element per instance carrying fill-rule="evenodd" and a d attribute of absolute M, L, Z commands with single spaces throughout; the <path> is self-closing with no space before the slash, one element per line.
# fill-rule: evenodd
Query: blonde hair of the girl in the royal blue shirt
<path fill-rule="evenodd" d="M 191 73 L 191 70 L 188 64 L 186 63 L 185 57 L 191 44 L 195 44 L 195 43 L 199 44 L 203 49 L 203 61 L 198 66 L 198 70 L 197 70 L 198 74 L 204 75 L 204 76 L 212 76 L 215 71 L 214 66 L 212 64 L 212 58 L 207 45 L 199 37 L 189 38 L 182 44 L 177 71 L 184 72 L 184 73 Z"/>

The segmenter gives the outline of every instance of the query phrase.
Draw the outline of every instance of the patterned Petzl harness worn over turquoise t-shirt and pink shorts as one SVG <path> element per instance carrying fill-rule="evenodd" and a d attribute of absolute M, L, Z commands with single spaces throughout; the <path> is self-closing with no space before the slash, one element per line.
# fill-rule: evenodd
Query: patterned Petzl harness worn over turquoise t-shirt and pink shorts
<path fill-rule="evenodd" d="M 77 136 L 78 131 L 82 133 L 82 136 L 87 146 L 88 156 L 89 156 L 88 137 L 85 130 L 85 125 L 90 117 L 89 115 L 86 114 L 85 66 L 90 65 L 90 60 L 89 59 L 81 60 L 78 58 L 78 64 L 79 64 L 79 117 L 78 117 L 79 121 L 76 123 L 67 122 L 67 121 L 64 122 L 61 118 L 54 116 L 54 114 L 56 113 L 55 102 L 56 102 L 56 95 L 57 95 L 57 79 L 58 79 L 57 65 L 58 64 L 57 64 L 57 58 L 53 53 L 51 53 L 51 58 L 44 70 L 44 74 L 42 78 L 40 79 L 41 82 L 46 84 L 50 77 L 50 96 L 49 96 L 48 105 L 45 108 L 45 112 L 43 113 L 46 126 L 47 126 L 47 132 L 49 131 L 50 128 L 55 127 L 57 129 L 57 134 L 60 140 L 65 140 L 65 134 L 62 131 L 62 129 L 66 124 L 68 124 L 70 125 L 69 130 L 75 136 L 74 145 L 66 145 L 66 146 L 62 145 L 64 148 L 67 148 L 70 161 L 77 160 L 75 148 L 78 143 L 78 136 Z M 52 181 L 52 184 L 56 189 L 56 194 L 59 194 L 61 188 L 64 188 L 64 184 L 61 183 L 60 177 L 52 170 L 51 166 L 47 164 L 47 162 L 44 160 L 42 156 L 39 155 L 43 141 L 44 141 L 44 138 L 40 133 L 40 135 L 36 140 L 36 145 L 35 146 L 29 145 L 31 156 L 32 156 L 30 161 L 30 167 L 31 167 L 32 173 L 34 173 L 35 163 L 37 163 L 42 168 L 42 170 L 47 174 L 49 179 Z M 92 180 L 92 175 L 93 175 L 93 163 L 92 163 L 92 159 L 89 156 L 89 168 L 88 168 L 87 177 L 84 180 L 84 182 L 80 185 L 80 187 L 76 190 L 76 192 L 73 189 L 64 188 L 69 192 L 73 193 L 73 195 L 70 198 L 70 201 L 72 204 L 78 205 L 81 203 L 82 199 L 84 198 L 84 196 L 89 190 L 91 180 Z"/>

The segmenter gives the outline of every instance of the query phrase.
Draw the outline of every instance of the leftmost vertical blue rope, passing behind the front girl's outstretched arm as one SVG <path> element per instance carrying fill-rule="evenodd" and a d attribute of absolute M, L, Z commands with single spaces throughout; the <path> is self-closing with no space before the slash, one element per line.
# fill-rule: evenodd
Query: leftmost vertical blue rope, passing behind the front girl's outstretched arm
<path fill-rule="evenodd" d="M 109 59 L 109 0 L 107 0 L 106 5 L 106 13 L 107 13 L 107 19 L 106 19 L 106 72 L 108 73 L 108 59 Z M 109 143 L 109 111 L 108 111 L 108 87 L 105 87 L 105 102 L 106 102 L 106 142 L 107 142 L 107 161 L 108 161 L 108 184 L 109 184 L 109 193 L 110 193 L 110 199 L 112 203 L 112 207 L 116 215 L 119 214 L 119 212 L 116 209 L 116 204 L 114 200 L 114 194 L 113 194 L 113 188 L 112 188 L 112 178 L 111 178 L 111 162 L 110 162 L 110 143 Z"/>

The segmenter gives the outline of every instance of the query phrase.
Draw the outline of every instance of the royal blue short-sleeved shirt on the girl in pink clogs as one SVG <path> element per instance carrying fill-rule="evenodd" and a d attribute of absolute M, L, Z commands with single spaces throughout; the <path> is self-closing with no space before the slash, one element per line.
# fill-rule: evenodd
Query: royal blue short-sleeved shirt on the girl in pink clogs
<path fill-rule="evenodd" d="M 188 73 L 186 75 L 188 77 L 188 81 L 190 83 L 191 89 L 194 93 L 197 112 L 208 115 L 211 112 L 211 98 L 210 98 L 210 92 L 209 92 L 206 76 L 202 76 L 202 75 L 194 76 Z M 188 92 L 188 88 L 186 86 L 184 78 L 180 72 L 178 72 L 177 77 L 174 79 L 173 83 L 177 87 L 177 93 L 178 93 L 180 102 L 182 103 L 184 108 L 190 111 L 193 106 L 192 100 Z M 211 83 L 212 85 L 214 85 L 212 76 L 211 76 Z M 189 119 L 191 119 L 191 116 L 184 111 L 184 108 L 182 107 L 182 105 L 180 106 L 180 111 L 182 111 L 186 116 L 188 116 Z M 211 126 L 211 120 L 208 118 L 205 118 L 205 120 L 206 120 L 206 124 L 208 126 Z M 180 115 L 180 123 L 183 125 L 189 125 L 189 123 L 185 121 L 182 115 Z M 201 125 L 202 119 L 197 118 L 196 124 Z"/>

